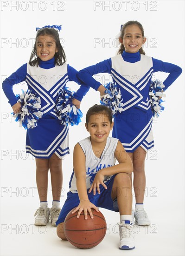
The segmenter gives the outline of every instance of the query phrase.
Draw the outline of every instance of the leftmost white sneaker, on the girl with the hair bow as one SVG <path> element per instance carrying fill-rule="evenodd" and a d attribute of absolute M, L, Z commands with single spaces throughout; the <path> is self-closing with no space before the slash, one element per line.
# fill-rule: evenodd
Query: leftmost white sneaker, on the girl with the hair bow
<path fill-rule="evenodd" d="M 46 226 L 50 220 L 50 208 L 44 209 L 42 207 L 39 207 L 36 210 L 36 213 L 34 216 L 36 216 L 35 225 Z"/>

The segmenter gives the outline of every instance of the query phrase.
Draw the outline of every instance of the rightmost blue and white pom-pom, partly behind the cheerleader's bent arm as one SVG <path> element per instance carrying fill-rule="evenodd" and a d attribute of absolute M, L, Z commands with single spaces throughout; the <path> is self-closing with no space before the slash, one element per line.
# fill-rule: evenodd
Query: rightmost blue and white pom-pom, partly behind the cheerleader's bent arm
<path fill-rule="evenodd" d="M 166 96 L 166 94 L 163 94 L 163 88 L 165 88 L 165 85 L 161 81 L 157 79 L 151 81 L 149 95 L 153 117 L 159 117 L 160 113 L 164 110 L 164 107 L 162 106 L 162 102 L 164 101 L 159 99 L 159 97 Z"/>

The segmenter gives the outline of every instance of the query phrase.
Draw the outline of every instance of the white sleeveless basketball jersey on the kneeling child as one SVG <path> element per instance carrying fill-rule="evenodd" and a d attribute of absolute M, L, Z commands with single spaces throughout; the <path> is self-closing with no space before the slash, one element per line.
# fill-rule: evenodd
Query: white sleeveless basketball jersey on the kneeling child
<path fill-rule="evenodd" d="M 94 180 L 94 177 L 99 170 L 115 165 L 115 149 L 117 147 L 117 143 L 118 139 L 108 137 L 101 158 L 98 158 L 93 152 L 90 137 L 79 142 L 86 157 L 85 166 L 87 189 L 90 188 Z M 107 180 L 110 176 L 111 175 L 105 176 L 104 181 Z M 76 177 L 74 171 L 70 179 L 70 191 L 72 193 L 77 193 Z"/>

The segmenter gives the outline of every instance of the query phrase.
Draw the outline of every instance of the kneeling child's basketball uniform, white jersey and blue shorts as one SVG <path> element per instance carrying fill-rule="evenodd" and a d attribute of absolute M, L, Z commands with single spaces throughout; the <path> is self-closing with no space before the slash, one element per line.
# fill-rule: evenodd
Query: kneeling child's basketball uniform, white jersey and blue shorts
<path fill-rule="evenodd" d="M 89 201 L 92 202 L 97 207 L 118 212 L 119 209 L 117 206 L 117 200 L 113 201 L 111 198 L 112 186 L 115 179 L 115 175 L 109 175 L 104 177 L 103 182 L 106 184 L 107 189 L 105 189 L 102 186 L 102 184 L 100 184 L 100 194 L 96 192 L 96 195 L 93 195 L 93 190 L 90 193 L 88 193 L 97 172 L 103 168 L 108 168 L 115 165 L 116 158 L 114 155 L 118 139 L 111 137 L 107 138 L 107 142 L 102 152 L 101 158 L 96 157 L 96 155 L 94 154 L 90 137 L 83 139 L 78 143 L 80 144 L 85 155 L 86 187 Z M 69 185 L 70 191 L 67 193 L 67 199 L 64 202 L 64 206 L 56 222 L 57 225 L 61 222 L 64 222 L 65 217 L 70 212 L 70 210 L 77 207 L 80 203 L 77 193 L 76 177 L 74 170 L 70 177 Z"/>

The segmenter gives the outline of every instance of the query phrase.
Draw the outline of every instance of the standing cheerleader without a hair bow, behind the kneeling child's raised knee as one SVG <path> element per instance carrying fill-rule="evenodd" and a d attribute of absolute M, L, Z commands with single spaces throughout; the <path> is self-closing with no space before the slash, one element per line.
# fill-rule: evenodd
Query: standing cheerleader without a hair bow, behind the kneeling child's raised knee
<path fill-rule="evenodd" d="M 169 73 L 163 82 L 165 91 L 178 78 L 182 69 L 145 55 L 142 44 L 146 38 L 138 21 L 128 21 L 122 26 L 119 41 L 121 47 L 116 56 L 82 69 L 78 77 L 102 96 L 105 88 L 92 76 L 108 73 L 121 90 L 123 112 L 115 115 L 112 136 L 121 141 L 133 162 L 136 204 L 132 215 L 138 225 L 150 225 L 143 201 L 146 187 L 145 157 L 147 150 L 154 146 L 149 96 L 151 78 L 157 71 Z"/>

